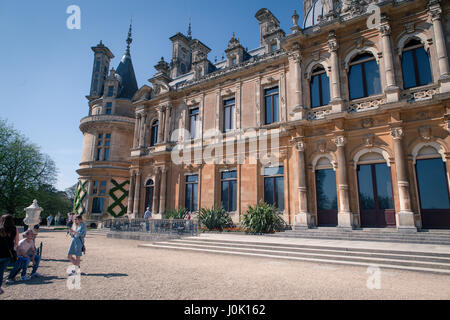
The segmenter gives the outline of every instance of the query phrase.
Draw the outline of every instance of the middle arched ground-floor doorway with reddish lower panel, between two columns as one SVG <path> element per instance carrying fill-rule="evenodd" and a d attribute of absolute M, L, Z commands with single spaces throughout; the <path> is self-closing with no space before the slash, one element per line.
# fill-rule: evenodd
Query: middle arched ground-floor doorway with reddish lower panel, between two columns
<path fill-rule="evenodd" d="M 369 152 L 357 162 L 361 227 L 395 227 L 391 169 L 383 155 Z"/>

